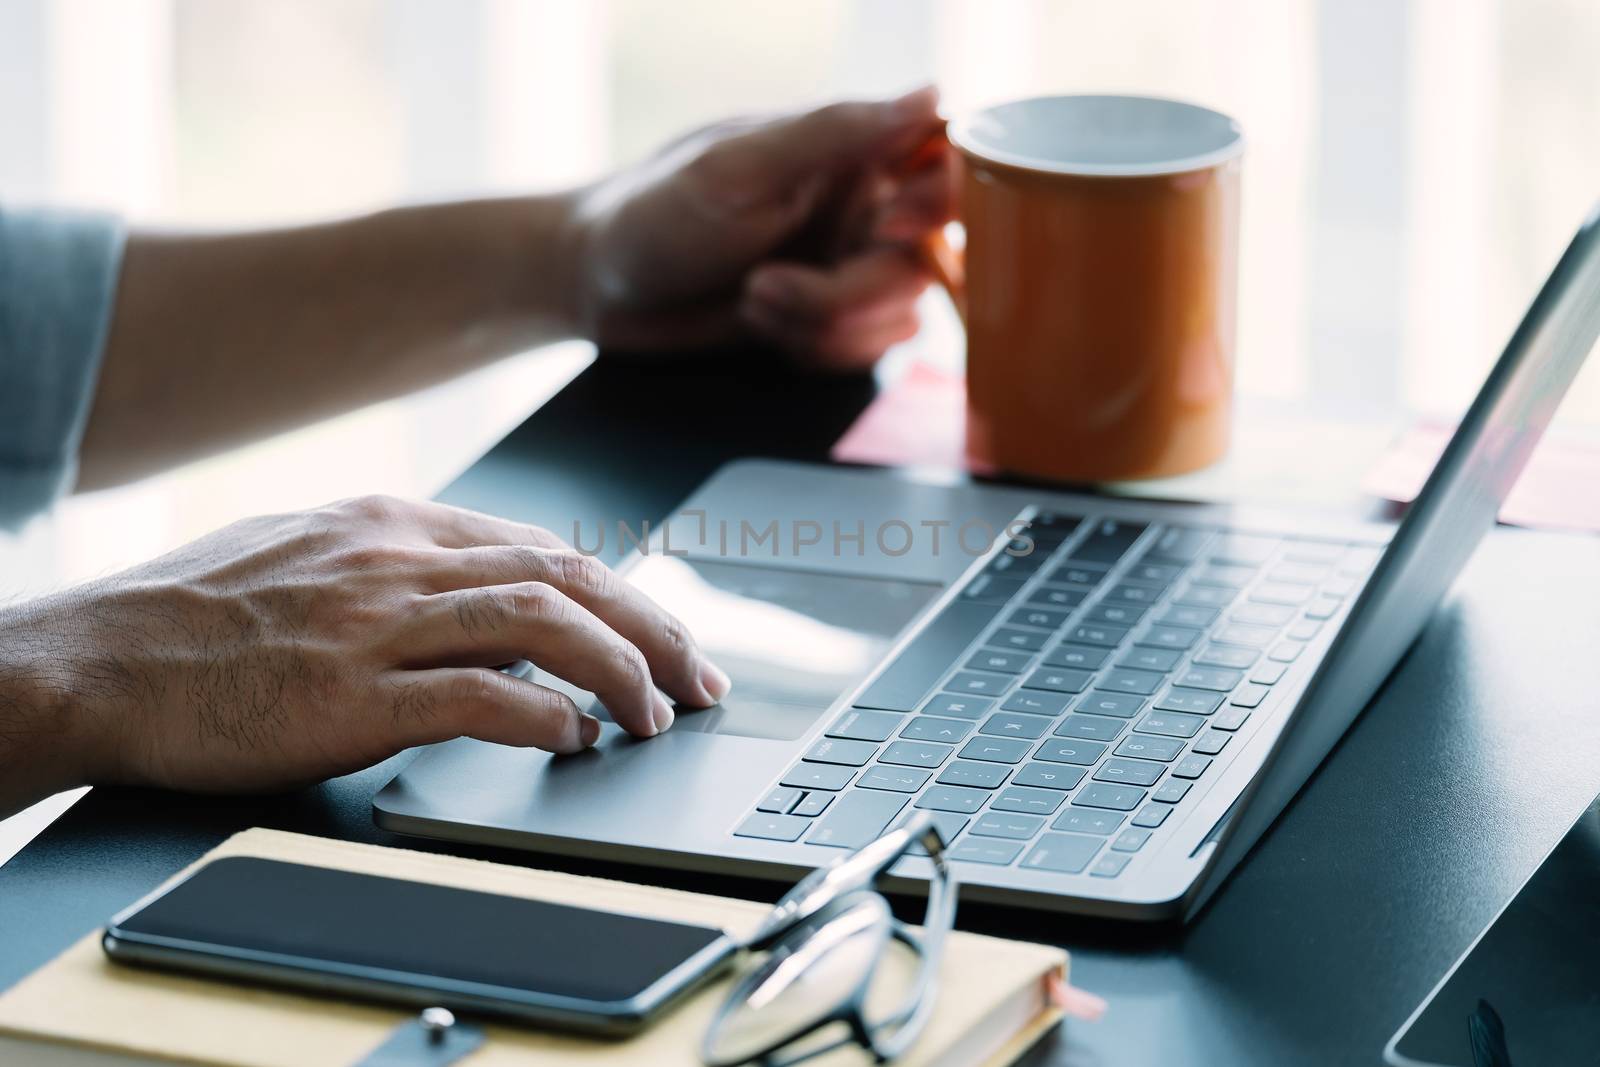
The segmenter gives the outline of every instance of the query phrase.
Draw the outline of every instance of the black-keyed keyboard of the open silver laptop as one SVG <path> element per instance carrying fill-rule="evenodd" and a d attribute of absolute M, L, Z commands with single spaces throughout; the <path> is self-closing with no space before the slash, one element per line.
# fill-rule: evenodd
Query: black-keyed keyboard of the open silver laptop
<path fill-rule="evenodd" d="M 1376 560 L 1034 514 L 734 833 L 858 848 L 923 808 L 954 859 L 1115 878 Z"/>

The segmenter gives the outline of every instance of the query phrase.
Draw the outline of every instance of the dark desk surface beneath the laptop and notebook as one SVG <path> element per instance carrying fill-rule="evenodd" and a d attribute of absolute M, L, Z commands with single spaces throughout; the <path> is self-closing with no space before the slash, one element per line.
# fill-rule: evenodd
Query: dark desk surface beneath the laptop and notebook
<path fill-rule="evenodd" d="M 742 454 L 822 459 L 872 394 L 707 360 L 586 371 L 443 499 L 555 530 L 667 514 Z M 1378 1062 L 1600 792 L 1600 539 L 1498 531 L 1374 704 L 1186 929 L 966 909 L 1110 1000 L 1029 1064 Z M 274 825 L 770 899 L 763 883 L 418 843 L 368 801 L 406 757 L 272 798 L 96 789 L 0 867 L 0 987 L 226 835 Z"/>

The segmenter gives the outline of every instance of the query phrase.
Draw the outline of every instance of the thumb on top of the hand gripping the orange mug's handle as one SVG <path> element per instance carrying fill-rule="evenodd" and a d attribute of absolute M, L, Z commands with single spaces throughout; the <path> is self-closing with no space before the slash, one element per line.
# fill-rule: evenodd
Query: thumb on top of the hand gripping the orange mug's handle
<path fill-rule="evenodd" d="M 888 101 L 850 101 L 779 118 L 738 138 L 774 182 L 888 163 L 939 128 L 939 90 L 928 85 Z"/>

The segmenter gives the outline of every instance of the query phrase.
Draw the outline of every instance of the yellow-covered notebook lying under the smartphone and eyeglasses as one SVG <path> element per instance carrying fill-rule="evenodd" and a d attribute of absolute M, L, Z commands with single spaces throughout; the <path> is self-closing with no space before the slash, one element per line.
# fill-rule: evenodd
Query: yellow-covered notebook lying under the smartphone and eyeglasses
<path fill-rule="evenodd" d="M 562 904 L 754 929 L 766 905 L 678 889 L 530 870 L 458 856 L 333 841 L 253 829 L 197 861 L 259 856 Z M 0 993 L 0 1064 L 38 1067 L 344 1067 L 411 1017 L 400 1008 L 310 997 L 110 963 L 94 931 Z M 1061 1013 L 1046 985 L 1066 977 L 1061 949 L 955 933 L 946 949 L 933 1022 L 901 1061 L 906 1067 L 1005 1067 L 1053 1027 Z M 486 1025 L 467 1067 L 638 1065 L 690 1067 L 722 1003 L 720 979 L 643 1033 L 587 1038 Z M 853 1067 L 869 1059 L 842 1049 L 816 1061 Z"/>

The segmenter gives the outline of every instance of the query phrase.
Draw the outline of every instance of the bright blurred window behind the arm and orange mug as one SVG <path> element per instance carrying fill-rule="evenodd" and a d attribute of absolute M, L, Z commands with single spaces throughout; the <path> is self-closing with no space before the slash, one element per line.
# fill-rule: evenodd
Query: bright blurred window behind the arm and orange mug
<path fill-rule="evenodd" d="M 563 186 L 730 114 L 925 80 L 957 110 L 1170 94 L 1250 138 L 1240 392 L 1394 421 L 1461 410 L 1589 210 L 1597 53 L 1590 0 L 8 0 L 0 197 L 269 224 Z M 440 437 L 504 429 L 570 357 L 253 450 L 248 493 L 146 501 L 128 552 L 342 490 L 286 459 L 330 442 L 437 488 Z M 1600 427 L 1594 365 L 1563 421 Z"/>

